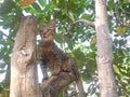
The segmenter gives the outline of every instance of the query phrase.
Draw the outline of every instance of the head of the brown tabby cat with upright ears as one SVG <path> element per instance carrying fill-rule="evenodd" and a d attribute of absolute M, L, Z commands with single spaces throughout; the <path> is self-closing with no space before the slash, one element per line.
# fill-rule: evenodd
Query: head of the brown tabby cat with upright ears
<path fill-rule="evenodd" d="M 52 43 L 55 36 L 56 22 L 52 20 L 49 26 L 40 23 L 40 37 L 43 43 Z"/>

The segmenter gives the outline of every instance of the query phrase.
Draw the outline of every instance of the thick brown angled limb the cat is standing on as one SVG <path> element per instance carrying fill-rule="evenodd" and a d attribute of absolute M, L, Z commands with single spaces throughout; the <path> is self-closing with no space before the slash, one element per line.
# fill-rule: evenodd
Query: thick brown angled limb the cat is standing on
<path fill-rule="evenodd" d="M 42 83 L 42 97 L 58 97 L 60 92 L 66 88 L 74 80 L 75 75 L 68 72 L 61 72 L 58 75 L 52 75 Z"/>

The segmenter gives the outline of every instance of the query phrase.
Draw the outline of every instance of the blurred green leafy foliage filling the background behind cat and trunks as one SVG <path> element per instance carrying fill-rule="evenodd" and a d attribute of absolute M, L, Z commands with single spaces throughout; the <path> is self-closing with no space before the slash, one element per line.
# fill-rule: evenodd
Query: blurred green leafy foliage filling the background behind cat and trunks
<path fill-rule="evenodd" d="M 10 56 L 21 23 L 20 18 L 25 13 L 35 15 L 38 23 L 42 20 L 49 24 L 52 18 L 57 20 L 56 43 L 75 58 L 83 82 L 88 84 L 87 95 L 99 96 L 96 36 L 93 27 L 88 26 L 88 20 L 93 24 L 95 18 L 94 0 L 31 1 L 26 5 L 21 3 L 22 0 L 0 1 L 0 74 L 5 74 L 0 82 L 0 96 L 9 95 Z M 113 68 L 117 89 L 119 96 L 127 97 L 130 95 L 130 3 L 128 0 L 108 0 L 106 8 L 113 38 Z M 1 77 L 3 75 L 0 75 L 0 79 Z M 70 85 L 68 91 L 69 95 L 76 93 L 75 85 Z"/>

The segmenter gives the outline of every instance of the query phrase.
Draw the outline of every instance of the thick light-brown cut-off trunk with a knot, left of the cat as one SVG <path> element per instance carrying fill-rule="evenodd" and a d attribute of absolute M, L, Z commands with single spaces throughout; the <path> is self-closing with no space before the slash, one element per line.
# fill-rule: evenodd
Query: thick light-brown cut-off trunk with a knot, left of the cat
<path fill-rule="evenodd" d="M 11 57 L 10 97 L 39 97 L 34 16 L 22 17 Z"/>

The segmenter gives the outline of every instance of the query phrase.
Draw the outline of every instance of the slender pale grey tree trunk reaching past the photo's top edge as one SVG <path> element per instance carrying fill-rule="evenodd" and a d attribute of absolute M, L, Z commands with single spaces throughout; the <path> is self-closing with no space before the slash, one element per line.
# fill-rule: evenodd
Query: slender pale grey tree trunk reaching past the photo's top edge
<path fill-rule="evenodd" d="M 101 97 L 118 97 L 113 72 L 112 38 L 107 25 L 106 0 L 95 0 L 95 30 Z"/>

